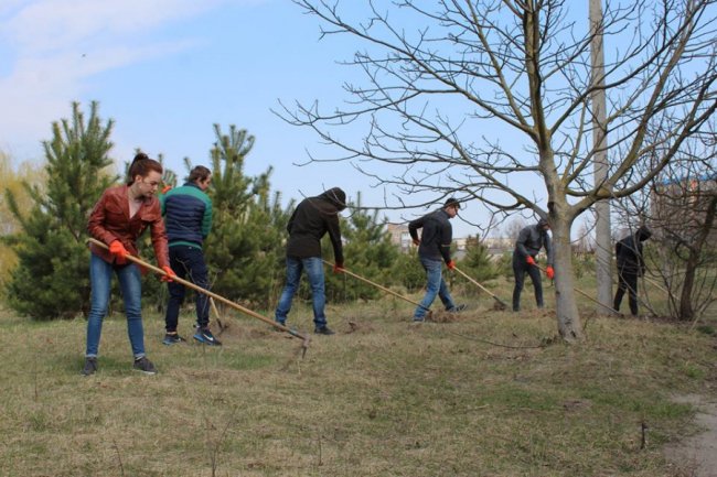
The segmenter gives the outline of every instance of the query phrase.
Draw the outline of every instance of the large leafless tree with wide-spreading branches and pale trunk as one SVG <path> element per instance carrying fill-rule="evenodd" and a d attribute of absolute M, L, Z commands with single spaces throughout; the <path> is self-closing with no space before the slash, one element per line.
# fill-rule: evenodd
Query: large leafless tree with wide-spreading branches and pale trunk
<path fill-rule="evenodd" d="M 575 1 L 295 0 L 320 19 L 322 36 L 362 42 L 345 64 L 365 82 L 344 85 L 350 100 L 335 109 L 282 105 L 281 115 L 312 128 L 335 151 L 330 160 L 392 191 L 386 207 L 456 194 L 494 214 L 547 217 L 558 330 L 580 340 L 570 226 L 599 200 L 649 184 L 715 111 L 715 1 L 607 3 L 604 77 L 592 78 L 591 29 Z M 602 148 L 591 140 L 596 88 L 611 138 L 602 183 L 590 169 Z M 657 126 L 663 134 L 648 134 Z M 354 142 L 346 132 L 356 130 Z M 657 147 L 661 160 L 636 176 Z"/>

